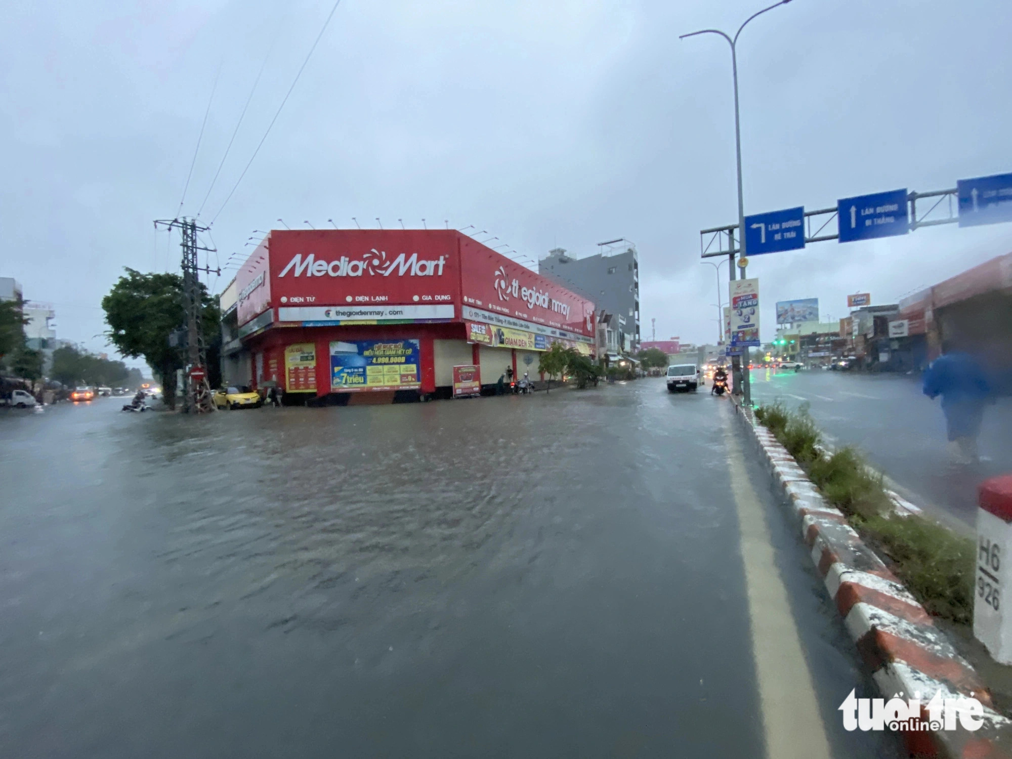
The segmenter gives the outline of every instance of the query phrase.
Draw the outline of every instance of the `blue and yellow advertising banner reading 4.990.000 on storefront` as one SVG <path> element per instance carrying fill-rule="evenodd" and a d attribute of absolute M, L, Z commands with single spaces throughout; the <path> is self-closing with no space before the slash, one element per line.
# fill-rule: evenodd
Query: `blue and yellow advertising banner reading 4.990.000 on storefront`
<path fill-rule="evenodd" d="M 330 344 L 334 393 L 417 390 L 421 387 L 418 340 L 335 340 Z"/>

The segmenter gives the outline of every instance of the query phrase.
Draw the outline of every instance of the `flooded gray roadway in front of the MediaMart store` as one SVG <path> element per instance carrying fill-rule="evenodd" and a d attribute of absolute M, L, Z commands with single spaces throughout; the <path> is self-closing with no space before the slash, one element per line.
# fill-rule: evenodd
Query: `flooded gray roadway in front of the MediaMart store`
<path fill-rule="evenodd" d="M 780 685 L 897 755 L 841 727 L 873 690 L 727 398 L 119 405 L 0 415 L 0 756 L 762 757 L 729 455 Z"/>

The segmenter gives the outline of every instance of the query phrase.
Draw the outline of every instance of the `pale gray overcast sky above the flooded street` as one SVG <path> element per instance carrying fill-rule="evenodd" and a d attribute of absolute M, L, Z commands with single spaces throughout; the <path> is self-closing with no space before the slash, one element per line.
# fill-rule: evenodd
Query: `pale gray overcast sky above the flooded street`
<path fill-rule="evenodd" d="M 342 0 L 219 214 L 331 6 L 5 8 L 0 276 L 53 302 L 61 337 L 105 350 L 99 301 L 122 267 L 178 267 L 178 238 L 152 221 L 177 214 L 216 78 L 186 215 L 263 65 L 200 214 L 222 263 L 278 218 L 448 220 L 533 259 L 625 237 L 644 337 L 656 318 L 658 338 L 714 340 L 698 232 L 737 221 L 731 55 L 714 35 L 678 34 L 733 33 L 761 2 Z M 754 20 L 739 43 L 746 214 L 1012 171 L 1010 28 L 1000 0 L 793 0 Z M 847 292 L 893 303 L 1009 250 L 1012 225 L 951 225 L 754 257 L 763 339 L 775 301 L 819 298 L 838 318 Z"/>

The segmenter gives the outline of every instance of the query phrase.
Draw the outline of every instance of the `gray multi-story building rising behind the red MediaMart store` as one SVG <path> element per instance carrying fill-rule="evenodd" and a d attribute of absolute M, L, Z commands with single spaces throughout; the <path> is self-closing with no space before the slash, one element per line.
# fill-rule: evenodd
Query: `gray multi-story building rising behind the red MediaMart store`
<path fill-rule="evenodd" d="M 612 327 L 622 333 L 621 349 L 640 349 L 640 262 L 628 240 L 599 243 L 600 253 L 583 258 L 563 248 L 549 251 L 537 262 L 537 273 L 594 302 L 598 314 L 613 315 Z"/>

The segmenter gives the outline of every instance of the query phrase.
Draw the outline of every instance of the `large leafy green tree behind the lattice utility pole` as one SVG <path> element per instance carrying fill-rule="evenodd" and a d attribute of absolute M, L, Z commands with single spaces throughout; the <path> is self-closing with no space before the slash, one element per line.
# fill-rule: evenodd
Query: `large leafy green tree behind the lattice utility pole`
<path fill-rule="evenodd" d="M 169 345 L 169 333 L 185 321 L 183 278 L 179 274 L 142 274 L 131 268 L 125 271 L 102 299 L 105 323 L 109 325 L 105 334 L 124 356 L 147 359 L 162 383 L 162 397 L 174 407 L 176 370 L 184 367 L 185 354 L 183 348 Z M 213 345 L 221 335 L 218 304 L 202 283 L 198 286 L 203 304 L 203 339 Z"/>

